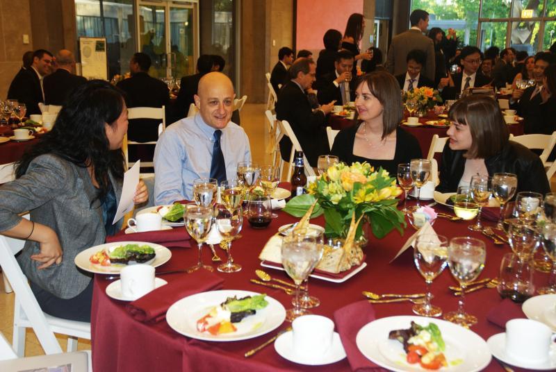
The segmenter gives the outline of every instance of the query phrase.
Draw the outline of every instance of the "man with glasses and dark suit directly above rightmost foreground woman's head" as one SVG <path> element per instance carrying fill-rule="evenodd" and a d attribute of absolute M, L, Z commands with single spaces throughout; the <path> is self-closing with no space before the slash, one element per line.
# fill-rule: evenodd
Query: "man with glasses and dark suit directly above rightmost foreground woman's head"
<path fill-rule="evenodd" d="M 442 90 L 442 99 L 456 99 L 461 92 L 473 87 L 489 85 L 491 78 L 479 74 L 477 70 L 481 65 L 482 53 L 479 48 L 467 46 L 461 49 L 459 62 L 463 67 L 458 74 L 450 74 L 448 78 L 440 80 L 439 89 Z"/>

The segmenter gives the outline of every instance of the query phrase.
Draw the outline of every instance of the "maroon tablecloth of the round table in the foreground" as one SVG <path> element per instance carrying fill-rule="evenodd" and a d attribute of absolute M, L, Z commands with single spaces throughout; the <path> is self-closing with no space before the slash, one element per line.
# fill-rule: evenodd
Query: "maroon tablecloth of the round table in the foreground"
<path fill-rule="evenodd" d="M 409 201 L 408 203 L 413 203 Z M 442 212 L 453 213 L 448 208 L 437 205 Z M 234 261 L 243 266 L 238 273 L 216 274 L 224 279 L 223 289 L 243 289 L 266 293 L 276 298 L 284 307 L 291 307 L 291 296 L 283 291 L 261 287 L 249 280 L 255 278 L 255 269 L 260 268 L 259 253 L 265 242 L 277 232 L 277 228 L 285 223 L 297 221 L 290 215 L 279 212 L 270 226 L 264 230 L 254 230 L 245 220 L 243 237 L 234 242 Z M 324 219 L 318 217 L 311 221 L 324 225 Z M 486 226 L 493 223 L 485 221 Z M 509 246 L 494 246 L 490 239 L 480 233 L 467 229 L 469 221 L 449 221 L 440 219 L 434 224 L 436 233 L 448 238 L 469 235 L 482 239 L 486 243 L 486 265 L 479 278 L 495 278 L 498 276 L 500 260 L 504 253 L 510 251 Z M 328 316 L 333 319 L 335 310 L 363 300 L 361 291 L 377 293 L 416 293 L 425 291 L 425 281 L 414 267 L 412 249 L 402 253 L 390 262 L 402 247 L 402 244 L 413 234 L 409 225 L 401 236 L 394 230 L 384 239 L 372 237 L 365 248 L 368 266 L 357 275 L 343 283 L 326 282 L 311 278 L 311 294 L 320 298 L 321 305 L 313 309 L 314 314 Z M 218 248 L 217 248 L 218 249 Z M 204 247 L 204 262 L 211 262 L 210 253 Z M 221 257 L 224 252 L 218 249 Z M 159 267 L 158 271 L 184 269 L 196 262 L 196 248 L 172 248 L 172 258 Z M 290 280 L 284 271 L 265 269 L 275 278 Z M 536 281 L 546 282 L 546 275 L 536 275 Z M 162 275 L 168 282 L 188 280 L 188 274 L 177 273 Z M 272 345 L 263 348 L 253 357 L 246 359 L 243 354 L 259 346 L 275 335 L 270 334 L 245 341 L 209 342 L 190 339 L 174 332 L 163 320 L 154 324 L 141 323 L 134 320 L 126 312 L 126 303 L 109 298 L 105 289 L 111 282 L 104 276 L 95 276 L 92 299 L 92 360 L 96 371 L 350 371 L 347 359 L 315 369 L 289 362 L 280 357 Z M 449 285 L 457 285 L 445 269 L 432 284 L 433 303 L 440 305 L 444 312 L 456 310 L 458 298 L 448 289 Z M 485 340 L 491 335 L 503 332 L 502 328 L 486 319 L 489 311 L 500 304 L 502 299 L 496 289 L 482 289 L 466 295 L 466 311 L 478 317 L 479 322 L 471 328 Z M 371 306 L 371 305 L 369 305 Z M 377 319 L 385 316 L 412 315 L 411 303 L 388 303 L 372 305 Z M 434 319 L 432 319 L 434 321 Z M 289 326 L 284 322 L 279 329 Z M 487 371 L 502 371 L 496 360 L 491 361 Z"/>

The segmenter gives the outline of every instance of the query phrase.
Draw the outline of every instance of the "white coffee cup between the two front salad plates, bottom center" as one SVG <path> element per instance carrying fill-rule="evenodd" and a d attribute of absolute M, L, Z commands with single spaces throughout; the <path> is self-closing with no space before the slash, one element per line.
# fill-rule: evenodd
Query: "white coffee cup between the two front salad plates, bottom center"
<path fill-rule="evenodd" d="M 292 323 L 293 350 L 304 359 L 317 359 L 332 346 L 334 322 L 325 316 L 304 315 Z"/>

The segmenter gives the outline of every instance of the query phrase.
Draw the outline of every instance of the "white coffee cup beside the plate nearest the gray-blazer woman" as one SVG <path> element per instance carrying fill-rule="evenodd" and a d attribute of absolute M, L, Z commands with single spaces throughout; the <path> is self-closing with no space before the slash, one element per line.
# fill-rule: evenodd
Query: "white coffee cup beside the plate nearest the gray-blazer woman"
<path fill-rule="evenodd" d="M 136 300 L 154 289 L 154 267 L 147 264 L 135 264 L 120 271 L 122 296 Z"/>

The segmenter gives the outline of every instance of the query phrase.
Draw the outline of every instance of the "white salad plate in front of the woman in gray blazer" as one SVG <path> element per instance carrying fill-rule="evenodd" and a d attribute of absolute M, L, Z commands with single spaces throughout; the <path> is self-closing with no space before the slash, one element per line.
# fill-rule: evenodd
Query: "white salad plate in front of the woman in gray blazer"
<path fill-rule="evenodd" d="M 139 244 L 140 246 L 142 245 L 152 246 L 152 248 L 154 248 L 154 253 L 156 255 L 154 256 L 153 260 L 145 262 L 145 264 L 149 264 L 152 267 L 159 267 L 161 266 L 161 264 L 165 264 L 166 262 L 168 262 L 168 260 L 170 260 L 170 257 L 172 257 L 172 252 L 170 252 L 170 249 L 166 248 L 165 246 L 161 246 L 160 244 L 147 243 L 147 242 L 113 242 L 113 243 L 100 244 L 98 246 L 93 246 L 91 248 L 85 249 L 85 251 L 82 251 L 81 253 L 75 256 L 75 264 L 77 267 L 79 267 L 79 269 L 88 271 L 90 273 L 95 273 L 95 274 L 120 273 L 120 271 L 122 271 L 122 269 L 126 267 L 126 265 L 111 264 L 110 266 L 101 266 L 100 264 L 93 264 L 92 262 L 90 262 L 89 258 L 95 253 L 102 251 L 105 248 L 111 250 L 117 246 L 124 246 L 126 244 Z"/>

